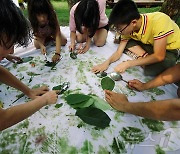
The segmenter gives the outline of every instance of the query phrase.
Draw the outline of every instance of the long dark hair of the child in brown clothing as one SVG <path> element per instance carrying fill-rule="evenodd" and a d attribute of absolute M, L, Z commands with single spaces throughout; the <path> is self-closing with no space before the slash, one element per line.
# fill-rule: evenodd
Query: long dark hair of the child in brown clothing
<path fill-rule="evenodd" d="M 56 32 L 57 30 L 57 19 L 56 13 L 50 0 L 28 0 L 28 16 L 33 28 L 34 34 L 38 32 L 39 23 L 37 20 L 37 15 L 46 14 L 49 20 L 49 26 Z"/>

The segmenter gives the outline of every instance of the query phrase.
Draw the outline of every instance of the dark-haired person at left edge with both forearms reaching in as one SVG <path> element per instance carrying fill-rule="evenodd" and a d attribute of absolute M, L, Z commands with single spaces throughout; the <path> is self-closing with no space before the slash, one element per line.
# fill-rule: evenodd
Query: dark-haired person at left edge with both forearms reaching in
<path fill-rule="evenodd" d="M 1 61 L 8 54 L 14 52 L 15 44 L 27 46 L 30 38 L 30 29 L 21 10 L 11 0 L 1 0 L 0 17 Z M 0 66 L 0 76 L 1 83 L 12 86 L 33 99 L 25 104 L 12 106 L 7 109 L 0 107 L 0 131 L 26 119 L 41 107 L 47 104 L 54 104 L 57 101 L 57 94 L 54 91 L 48 92 L 47 87 L 30 89 L 2 66 Z"/>

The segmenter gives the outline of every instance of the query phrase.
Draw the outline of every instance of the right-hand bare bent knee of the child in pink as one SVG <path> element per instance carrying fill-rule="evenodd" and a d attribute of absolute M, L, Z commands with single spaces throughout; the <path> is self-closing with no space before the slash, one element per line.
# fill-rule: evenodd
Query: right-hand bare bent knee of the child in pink
<path fill-rule="evenodd" d="M 97 47 L 102 47 L 106 43 L 107 30 L 102 28 L 96 31 L 93 40 Z"/>

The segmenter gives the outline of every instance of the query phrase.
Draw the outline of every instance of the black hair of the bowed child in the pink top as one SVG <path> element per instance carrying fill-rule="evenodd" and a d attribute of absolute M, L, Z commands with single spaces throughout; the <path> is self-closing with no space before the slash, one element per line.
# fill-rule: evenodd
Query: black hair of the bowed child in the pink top
<path fill-rule="evenodd" d="M 93 37 L 99 27 L 100 12 L 96 0 L 81 0 L 74 13 L 77 30 L 82 34 L 82 26 L 89 30 L 89 37 Z"/>

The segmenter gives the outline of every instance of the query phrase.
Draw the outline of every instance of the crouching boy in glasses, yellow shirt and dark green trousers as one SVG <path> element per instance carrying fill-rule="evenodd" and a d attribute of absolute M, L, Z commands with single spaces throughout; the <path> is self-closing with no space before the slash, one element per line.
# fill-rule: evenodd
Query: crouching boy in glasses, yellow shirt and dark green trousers
<path fill-rule="evenodd" d="M 124 49 L 138 54 L 139 58 L 120 63 L 114 68 L 116 72 L 145 65 L 144 74 L 155 76 L 176 64 L 180 29 L 166 14 L 139 14 L 132 0 L 119 0 L 111 12 L 109 24 L 116 26 L 121 42 L 108 60 L 92 68 L 93 72 L 106 70 L 121 57 Z"/>

